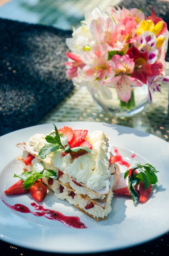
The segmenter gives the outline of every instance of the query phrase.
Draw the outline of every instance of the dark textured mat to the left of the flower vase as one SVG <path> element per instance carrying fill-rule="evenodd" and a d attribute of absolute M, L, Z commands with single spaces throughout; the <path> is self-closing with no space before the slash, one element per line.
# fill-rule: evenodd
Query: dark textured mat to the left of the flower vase
<path fill-rule="evenodd" d="M 73 89 L 63 65 L 71 34 L 0 19 L 0 135 L 37 124 Z"/>

